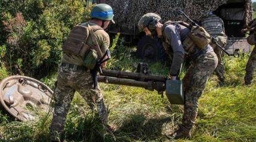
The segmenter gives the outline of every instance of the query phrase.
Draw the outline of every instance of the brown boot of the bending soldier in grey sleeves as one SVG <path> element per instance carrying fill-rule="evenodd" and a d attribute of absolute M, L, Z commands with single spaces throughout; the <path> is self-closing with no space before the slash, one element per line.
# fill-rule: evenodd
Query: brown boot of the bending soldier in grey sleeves
<path fill-rule="evenodd" d="M 189 130 L 188 128 L 184 127 L 184 126 L 180 126 L 180 128 L 176 131 L 174 131 L 174 133 L 171 133 L 170 136 L 174 139 L 180 139 L 180 138 L 191 138 L 191 130 Z"/>

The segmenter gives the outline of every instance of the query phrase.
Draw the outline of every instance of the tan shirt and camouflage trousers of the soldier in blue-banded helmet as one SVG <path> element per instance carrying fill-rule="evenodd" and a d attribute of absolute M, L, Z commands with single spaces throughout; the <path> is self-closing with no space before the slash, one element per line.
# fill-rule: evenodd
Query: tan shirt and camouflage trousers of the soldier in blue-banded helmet
<path fill-rule="evenodd" d="M 108 34 L 99 26 L 89 22 L 94 31 L 96 41 L 105 52 L 110 45 Z M 83 25 L 83 24 L 82 24 Z M 96 28 L 94 28 L 96 27 Z M 86 44 L 93 45 L 92 37 L 88 37 Z M 70 109 L 70 104 L 77 91 L 83 96 L 92 111 L 98 109 L 98 117 L 102 124 L 108 122 L 108 110 L 104 105 L 104 99 L 99 86 L 93 89 L 93 79 L 90 70 L 83 66 L 83 59 L 74 54 L 64 53 L 62 63 L 58 69 L 57 86 L 54 93 L 55 107 L 51 123 L 51 139 L 58 140 L 64 130 L 65 119 Z"/>

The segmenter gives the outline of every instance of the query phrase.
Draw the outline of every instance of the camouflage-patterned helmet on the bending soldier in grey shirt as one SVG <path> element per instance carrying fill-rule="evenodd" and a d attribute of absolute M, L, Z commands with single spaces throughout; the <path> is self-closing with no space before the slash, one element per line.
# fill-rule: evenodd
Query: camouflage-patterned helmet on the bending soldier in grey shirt
<path fill-rule="evenodd" d="M 138 26 L 139 30 L 143 31 L 143 28 L 147 27 L 149 30 L 155 30 L 157 22 L 161 20 L 160 15 L 154 13 L 147 13 L 141 17 Z"/>

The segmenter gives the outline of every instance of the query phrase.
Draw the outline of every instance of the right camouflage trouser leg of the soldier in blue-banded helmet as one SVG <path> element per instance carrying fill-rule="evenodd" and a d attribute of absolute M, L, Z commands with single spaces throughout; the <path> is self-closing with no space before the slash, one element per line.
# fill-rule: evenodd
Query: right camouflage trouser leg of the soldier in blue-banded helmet
<path fill-rule="evenodd" d="M 93 89 L 92 75 L 90 72 L 83 73 L 83 77 L 80 78 L 79 86 L 77 86 L 77 92 L 83 96 L 86 103 L 90 106 L 93 112 L 98 115 L 102 124 L 107 124 L 108 122 L 108 110 L 105 107 L 104 99 L 101 93 L 101 89 Z"/>

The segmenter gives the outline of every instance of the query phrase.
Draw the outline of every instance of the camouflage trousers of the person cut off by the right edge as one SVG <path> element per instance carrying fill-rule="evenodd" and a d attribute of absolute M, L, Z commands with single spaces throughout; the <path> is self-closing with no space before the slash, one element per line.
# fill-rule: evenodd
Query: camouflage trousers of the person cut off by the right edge
<path fill-rule="evenodd" d="M 256 48 L 252 50 L 252 53 L 248 59 L 245 69 L 245 84 L 249 85 L 252 83 L 252 78 L 254 76 L 254 69 L 256 67 Z"/>

